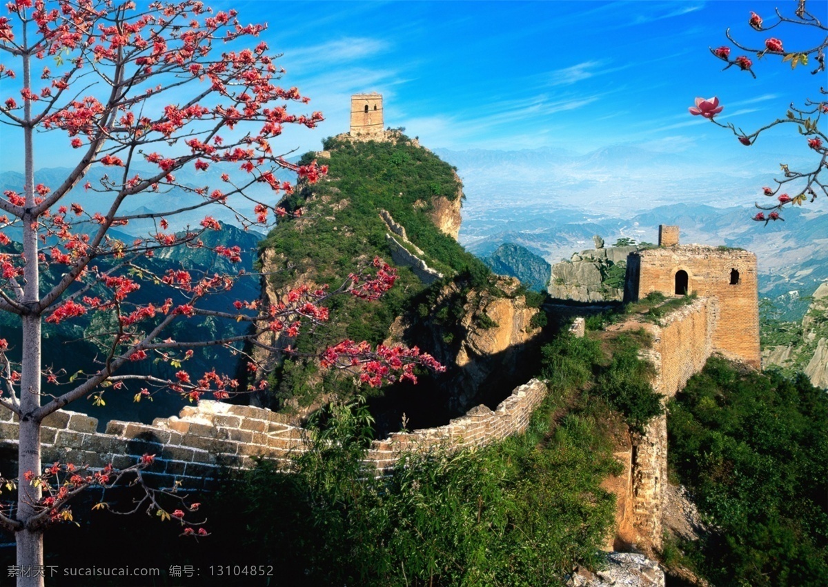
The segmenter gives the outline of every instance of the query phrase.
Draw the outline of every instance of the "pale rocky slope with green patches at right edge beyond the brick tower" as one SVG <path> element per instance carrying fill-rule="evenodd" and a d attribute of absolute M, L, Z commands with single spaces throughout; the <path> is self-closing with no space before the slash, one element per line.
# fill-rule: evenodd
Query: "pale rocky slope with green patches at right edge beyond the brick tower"
<path fill-rule="evenodd" d="M 816 387 L 828 388 L 828 282 L 814 292 L 802 323 L 763 326 L 762 364 L 802 371 Z"/>

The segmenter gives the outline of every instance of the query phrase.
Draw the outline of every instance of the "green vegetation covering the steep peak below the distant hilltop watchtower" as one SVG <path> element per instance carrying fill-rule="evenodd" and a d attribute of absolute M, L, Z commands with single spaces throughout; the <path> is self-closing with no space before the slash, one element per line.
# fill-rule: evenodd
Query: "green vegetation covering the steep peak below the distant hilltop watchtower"
<path fill-rule="evenodd" d="M 303 218 L 281 222 L 262 243 L 272 253 L 270 268 L 277 272 L 270 279 L 277 290 L 300 279 L 336 287 L 360 262 L 377 256 L 391 261 L 381 209 L 405 227 L 407 237 L 425 252 L 429 267 L 446 279 L 471 275 L 477 281 L 488 280 L 489 269 L 441 233 L 428 216 L 435 196 L 460 197 L 460 181 L 451 166 L 402 135 L 388 142 L 329 138 L 325 149 L 330 159 L 322 158 L 320 164 L 329 166 L 327 178 L 304 185 L 283 202 L 288 209 L 302 208 Z M 302 161 L 315 157 L 308 153 Z M 398 315 L 416 307 L 414 299 L 424 290 L 411 270 L 401 267 L 397 285 L 380 301 L 349 296 L 332 300 L 331 322 L 301 334 L 294 347 L 314 354 L 342 339 L 378 344 Z M 273 407 L 283 407 L 289 398 L 309 404 L 324 393 L 351 391 L 349 381 L 319 373 L 312 360 L 285 362 L 272 376 Z"/>

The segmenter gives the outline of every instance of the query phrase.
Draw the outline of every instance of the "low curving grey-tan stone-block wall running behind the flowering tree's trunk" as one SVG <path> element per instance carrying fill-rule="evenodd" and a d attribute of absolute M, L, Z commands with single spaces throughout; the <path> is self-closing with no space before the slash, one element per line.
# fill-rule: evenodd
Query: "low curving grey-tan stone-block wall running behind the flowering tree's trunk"
<path fill-rule="evenodd" d="M 532 411 L 546 397 L 546 385 L 533 379 L 516 387 L 492 411 L 469 410 L 445 426 L 392 434 L 374 440 L 366 462 L 378 471 L 390 469 L 403 451 L 427 452 L 487 445 L 526 430 Z M 259 407 L 202 401 L 180 416 L 156 418 L 152 425 L 110 421 L 105 433 L 98 421 L 73 411 L 52 414 L 42 428 L 43 462 L 71 462 L 103 467 L 128 467 L 144 454 L 156 455 L 144 475 L 156 487 L 179 480 L 187 490 L 214 488 L 222 469 L 249 469 L 253 457 L 283 467 L 290 456 L 307 449 L 306 431 L 289 416 Z M 0 474 L 17 476 L 17 422 L 0 411 Z"/>

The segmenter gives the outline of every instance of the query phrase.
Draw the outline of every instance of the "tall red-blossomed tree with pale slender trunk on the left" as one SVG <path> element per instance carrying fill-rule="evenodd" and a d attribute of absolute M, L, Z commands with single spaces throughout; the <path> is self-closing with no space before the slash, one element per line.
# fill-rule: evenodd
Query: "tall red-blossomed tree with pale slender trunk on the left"
<path fill-rule="evenodd" d="M 217 214 L 208 214 L 213 210 L 229 211 L 245 228 L 267 227 L 288 215 L 273 204 L 292 190 L 277 171 L 295 171 L 300 180 L 312 182 L 326 170 L 315 163 L 292 165 L 286 153 L 274 152 L 272 141 L 286 124 L 313 128 L 322 115 L 287 112 L 288 103 L 308 99 L 296 88 L 276 84 L 283 72 L 264 42 L 234 48 L 258 36 L 263 26 L 244 26 L 233 10 L 214 13 L 194 0 L 152 2 L 143 9 L 111 0 L 13 0 L 7 9 L 8 16 L 0 17 L 0 79 L 7 94 L 0 97 L 0 118 L 3 142 L 19 142 L 25 169 L 21 189 L 0 198 L 0 310 L 19 320 L 22 329 L 17 362 L 12 359 L 15 343 L 0 339 L 0 410 L 12 411 L 20 422 L 19 476 L 3 480 L 17 486 L 17 502 L 0 508 L 0 525 L 16 534 L 18 565 L 29 566 L 43 564 L 43 529 L 71 519 L 71 498 L 90 486 L 107 488 L 125 475 L 140 481 L 153 459 L 145 455 L 121 470 L 72 463 L 44 469 L 41 423 L 46 416 L 81 397 L 103 403 L 104 387 L 129 389 L 136 400 L 165 389 L 197 400 L 263 387 L 264 382 L 253 382 L 243 388 L 215 370 L 198 376 L 181 366 L 197 347 L 225 345 L 241 353 L 245 342 L 261 345 L 258 334 L 264 330 L 296 335 L 327 320 L 324 302 L 330 296 L 373 299 L 396 276 L 375 259 L 373 267 L 354 272 L 337 288 L 302 286 L 285 292 L 277 304 L 237 300 L 226 310 L 210 310 L 205 300 L 228 291 L 243 272 L 153 274 L 147 260 L 156 253 L 207 247 L 201 236 L 221 229 Z M 35 183 L 37 147 L 44 143 L 65 145 L 77 154 L 57 185 Z M 216 168 L 220 176 L 208 175 Z M 98 170 L 105 173 L 95 179 Z M 176 180 L 179 171 L 214 180 L 185 184 Z M 81 187 L 94 195 L 94 209 L 79 203 Z M 130 204 L 148 202 L 150 211 L 124 212 Z M 170 228 L 183 214 L 190 218 L 195 212 L 200 214 L 195 229 Z M 114 227 L 123 230 L 137 221 L 152 229 L 132 242 L 113 236 Z M 238 247 L 210 249 L 229 262 L 240 259 Z M 41 279 L 46 275 L 51 278 Z M 168 288 L 168 295 L 137 301 L 135 292 L 148 282 Z M 49 367 L 41 356 L 42 320 L 61 324 L 90 315 L 106 316 L 101 323 L 108 325 L 87 330 L 87 337 L 105 349 L 96 369 L 67 376 Z M 176 323 L 205 316 L 252 328 L 219 340 L 181 341 L 165 334 Z M 152 359 L 171 365 L 174 376 L 119 373 L 128 363 Z M 353 341 L 328 349 L 322 361 L 330 368 L 352 369 L 371 385 L 413 380 L 418 364 L 440 368 L 417 349 L 371 349 Z M 248 366 L 256 372 L 249 356 Z M 167 512 L 158 501 L 161 493 L 145 490 L 142 506 L 180 519 L 184 534 L 206 533 L 186 519 L 196 504 L 181 501 Z M 18 585 L 40 583 L 38 577 L 18 578 Z"/>

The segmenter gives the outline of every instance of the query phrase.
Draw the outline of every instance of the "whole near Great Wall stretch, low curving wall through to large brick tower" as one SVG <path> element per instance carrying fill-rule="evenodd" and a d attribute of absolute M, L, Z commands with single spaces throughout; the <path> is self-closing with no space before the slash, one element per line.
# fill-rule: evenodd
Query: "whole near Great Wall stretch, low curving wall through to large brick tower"
<path fill-rule="evenodd" d="M 677 234 L 677 229 L 676 229 Z M 665 246 L 666 244 L 666 246 Z M 697 299 L 662 317 L 658 324 L 629 320 L 613 330 L 644 329 L 652 336 L 645 351 L 655 368 L 652 387 L 669 398 L 700 372 L 711 354 L 758 367 L 758 296 L 756 257 L 739 250 L 681 247 L 632 253 L 628 293 L 633 299 L 649 291 L 678 296 L 696 293 Z M 680 291 L 683 288 L 683 291 Z M 583 335 L 582 320 L 580 332 Z M 492 411 L 483 405 L 445 426 L 395 433 L 374 440 L 365 461 L 378 473 L 391 469 L 411 452 L 436 448 L 468 449 L 487 445 L 524 431 L 532 411 L 546 396 L 537 380 L 516 387 Z M 0 462 L 16 466 L 17 422 L 0 412 Z M 188 490 L 214 488 L 224 469 L 248 469 L 254 457 L 287 466 L 291 455 L 307 450 L 310 439 L 300 423 L 267 409 L 202 401 L 185 407 L 181 415 L 158 418 L 152 425 L 110 421 L 96 432 L 98 421 L 85 414 L 59 411 L 44 422 L 41 442 L 44 462 L 75 462 L 103 467 L 133 464 L 144 454 L 156 455 L 144 474 L 156 486 L 181 481 Z M 605 487 L 616 494 L 616 549 L 629 545 L 662 546 L 663 489 L 667 480 L 667 415 L 653 419 L 643 435 L 633 435 L 627 447 L 615 453 L 623 473 Z"/>

